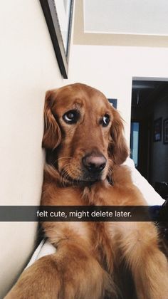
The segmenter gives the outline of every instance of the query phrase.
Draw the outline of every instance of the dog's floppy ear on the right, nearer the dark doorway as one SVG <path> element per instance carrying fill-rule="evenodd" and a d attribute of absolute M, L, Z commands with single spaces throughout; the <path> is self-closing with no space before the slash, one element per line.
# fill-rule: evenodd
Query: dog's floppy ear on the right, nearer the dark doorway
<path fill-rule="evenodd" d="M 123 135 L 123 120 L 119 112 L 112 108 L 112 125 L 110 128 L 109 157 L 115 164 L 122 164 L 129 155 L 129 150 Z"/>

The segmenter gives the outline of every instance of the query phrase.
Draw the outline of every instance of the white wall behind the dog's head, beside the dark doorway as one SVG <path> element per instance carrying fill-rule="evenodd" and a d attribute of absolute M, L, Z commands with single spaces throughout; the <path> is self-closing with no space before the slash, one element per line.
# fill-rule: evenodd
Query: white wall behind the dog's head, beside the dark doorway
<path fill-rule="evenodd" d="M 128 144 L 132 77 L 168 78 L 168 49 L 73 46 L 70 81 L 93 85 L 107 98 L 118 99 L 118 110 L 126 122 Z"/>

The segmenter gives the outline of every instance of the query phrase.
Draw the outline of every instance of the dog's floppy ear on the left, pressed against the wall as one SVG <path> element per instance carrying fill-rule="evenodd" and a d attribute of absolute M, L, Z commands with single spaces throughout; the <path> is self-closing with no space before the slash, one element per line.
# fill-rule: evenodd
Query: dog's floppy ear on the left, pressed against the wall
<path fill-rule="evenodd" d="M 52 107 L 56 100 L 56 90 L 48 90 L 44 105 L 44 133 L 42 146 L 54 150 L 61 142 L 61 130 L 53 116 Z"/>

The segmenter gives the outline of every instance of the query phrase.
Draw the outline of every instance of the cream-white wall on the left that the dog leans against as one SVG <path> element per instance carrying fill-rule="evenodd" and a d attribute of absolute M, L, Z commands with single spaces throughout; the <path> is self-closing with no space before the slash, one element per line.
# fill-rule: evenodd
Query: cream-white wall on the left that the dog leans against
<path fill-rule="evenodd" d="M 1 205 L 37 205 L 43 179 L 43 100 L 63 85 L 40 1 L 0 10 Z M 33 250 L 35 223 L 0 223 L 0 298 Z"/>

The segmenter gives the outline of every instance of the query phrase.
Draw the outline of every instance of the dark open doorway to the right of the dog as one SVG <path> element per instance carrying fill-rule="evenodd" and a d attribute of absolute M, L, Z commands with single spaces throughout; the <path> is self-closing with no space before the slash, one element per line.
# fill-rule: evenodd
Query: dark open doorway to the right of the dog
<path fill-rule="evenodd" d="M 168 145 L 164 123 L 168 118 L 168 82 L 132 80 L 131 157 L 147 181 L 168 182 Z"/>

